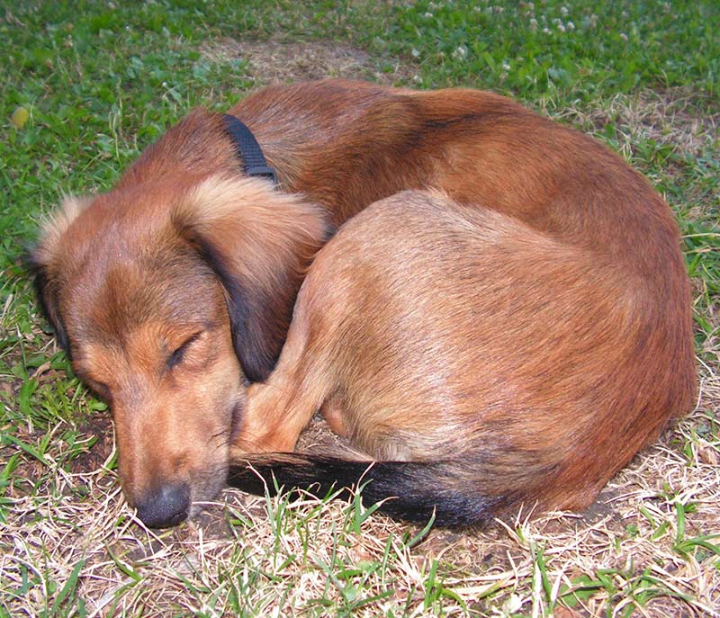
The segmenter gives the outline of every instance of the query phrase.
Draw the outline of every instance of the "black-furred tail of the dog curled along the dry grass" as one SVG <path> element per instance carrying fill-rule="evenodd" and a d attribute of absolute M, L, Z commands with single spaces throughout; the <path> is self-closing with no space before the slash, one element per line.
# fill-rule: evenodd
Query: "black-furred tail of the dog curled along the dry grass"
<path fill-rule="evenodd" d="M 275 494 L 275 488 L 281 488 L 326 497 L 337 490 L 362 488 L 365 506 L 382 503 L 378 510 L 394 518 L 427 523 L 435 516 L 436 525 L 452 527 L 487 523 L 522 503 L 533 506 L 533 492 L 523 491 L 509 479 L 517 470 L 500 475 L 505 481 L 503 491 L 488 487 L 493 479 L 498 481 L 500 470 L 481 465 L 488 476 L 479 476 L 477 464 L 460 460 L 349 461 L 302 452 L 248 454 L 230 466 L 228 481 L 230 487 L 260 495 L 265 491 Z M 348 494 L 339 491 L 338 496 Z"/>

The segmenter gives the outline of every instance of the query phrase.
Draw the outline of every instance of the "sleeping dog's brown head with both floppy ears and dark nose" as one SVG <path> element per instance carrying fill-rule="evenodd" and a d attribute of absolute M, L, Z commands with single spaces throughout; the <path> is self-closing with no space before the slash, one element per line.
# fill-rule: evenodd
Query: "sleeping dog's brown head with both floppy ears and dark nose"
<path fill-rule="evenodd" d="M 245 385 L 275 365 L 324 212 L 263 180 L 67 198 L 33 260 L 74 370 L 112 408 L 125 496 L 176 524 L 223 487 Z"/>

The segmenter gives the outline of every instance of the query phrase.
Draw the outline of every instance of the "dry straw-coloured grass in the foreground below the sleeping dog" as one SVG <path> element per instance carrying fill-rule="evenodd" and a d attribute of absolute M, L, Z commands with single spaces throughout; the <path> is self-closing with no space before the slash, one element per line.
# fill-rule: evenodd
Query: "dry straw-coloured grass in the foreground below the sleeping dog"
<path fill-rule="evenodd" d="M 104 465 L 67 472 L 50 464 L 41 490 L 14 497 L 0 524 L 4 580 L 42 585 L 5 602 L 12 615 L 40 614 L 58 599 L 52 584 L 67 582 L 79 564 L 73 592 L 88 615 L 332 615 L 358 600 L 348 587 L 381 597 L 356 615 L 435 614 L 441 606 L 446 615 L 546 615 L 583 584 L 591 596 L 557 615 L 605 614 L 608 602 L 620 614 L 634 600 L 649 616 L 720 615 L 718 557 L 696 551 L 699 537 L 720 535 L 720 443 L 698 436 L 719 408 L 720 380 L 706 371 L 694 415 L 636 458 L 586 515 L 518 517 L 484 533 L 438 530 L 412 548 L 403 539 L 419 530 L 384 517 L 368 518 L 357 533 L 353 505 L 232 490 L 199 520 L 157 534 L 125 506 Z M 78 499 L 79 489 L 91 498 Z M 333 582 L 330 565 L 347 578 Z M 451 596 L 428 604 L 439 582 Z"/>

